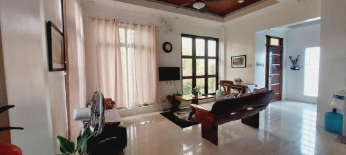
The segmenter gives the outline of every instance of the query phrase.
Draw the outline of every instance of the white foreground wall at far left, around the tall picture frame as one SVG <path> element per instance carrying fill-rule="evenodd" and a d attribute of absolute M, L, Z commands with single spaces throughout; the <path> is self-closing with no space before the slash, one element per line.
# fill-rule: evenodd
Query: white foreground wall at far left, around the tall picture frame
<path fill-rule="evenodd" d="M 45 21 L 62 30 L 60 0 L 1 1 L 1 32 L 11 140 L 23 154 L 55 154 L 55 136 L 67 136 L 64 72 L 48 72 Z M 57 149 L 55 149 L 57 150 Z"/>

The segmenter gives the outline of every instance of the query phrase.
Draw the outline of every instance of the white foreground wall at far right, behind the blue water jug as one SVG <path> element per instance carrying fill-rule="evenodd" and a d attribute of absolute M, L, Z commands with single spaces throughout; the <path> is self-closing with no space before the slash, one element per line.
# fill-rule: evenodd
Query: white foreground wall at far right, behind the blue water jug
<path fill-rule="evenodd" d="M 346 85 L 345 8 L 345 0 L 334 0 L 333 3 L 330 3 L 329 0 L 322 0 L 320 84 L 317 105 L 317 122 L 321 126 L 325 123 L 325 112 L 331 111 L 331 97 Z M 346 132 L 346 125 L 344 131 Z"/>

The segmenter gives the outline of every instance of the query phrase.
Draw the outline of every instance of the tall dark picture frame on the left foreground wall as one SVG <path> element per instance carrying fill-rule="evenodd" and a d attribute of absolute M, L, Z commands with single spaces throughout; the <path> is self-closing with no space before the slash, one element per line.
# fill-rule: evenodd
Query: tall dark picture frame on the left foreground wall
<path fill-rule="evenodd" d="M 66 70 L 64 33 L 51 21 L 46 22 L 46 33 L 49 71 Z"/>

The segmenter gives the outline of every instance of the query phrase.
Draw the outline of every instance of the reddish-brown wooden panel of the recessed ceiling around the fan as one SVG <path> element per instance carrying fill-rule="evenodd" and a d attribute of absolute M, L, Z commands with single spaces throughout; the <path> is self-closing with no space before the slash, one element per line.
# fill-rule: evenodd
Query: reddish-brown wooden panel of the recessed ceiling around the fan
<path fill-rule="evenodd" d="M 232 12 L 235 12 L 236 10 L 240 10 L 242 8 L 245 8 L 246 6 L 250 6 L 253 3 L 256 3 L 261 0 L 245 0 L 243 3 L 238 3 L 237 0 L 224 0 L 221 2 L 208 2 L 205 0 L 202 0 L 206 3 L 206 6 L 208 8 L 207 12 L 211 14 L 215 14 L 219 17 L 226 17 L 227 14 L 230 14 Z M 154 1 L 155 2 L 155 1 Z M 180 6 L 184 3 L 191 2 L 190 5 L 185 6 L 185 8 L 194 9 L 192 7 L 192 4 L 194 1 L 192 0 L 156 0 L 156 2 L 163 2 L 167 4 L 173 4 L 174 6 Z"/>

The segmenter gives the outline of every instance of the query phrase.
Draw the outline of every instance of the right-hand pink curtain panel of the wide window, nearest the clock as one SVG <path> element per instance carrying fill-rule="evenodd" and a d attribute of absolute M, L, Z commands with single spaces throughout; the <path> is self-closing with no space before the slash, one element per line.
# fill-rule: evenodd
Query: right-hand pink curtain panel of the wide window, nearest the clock
<path fill-rule="evenodd" d="M 155 26 L 134 25 L 134 55 L 138 105 L 152 105 L 158 101 Z"/>

